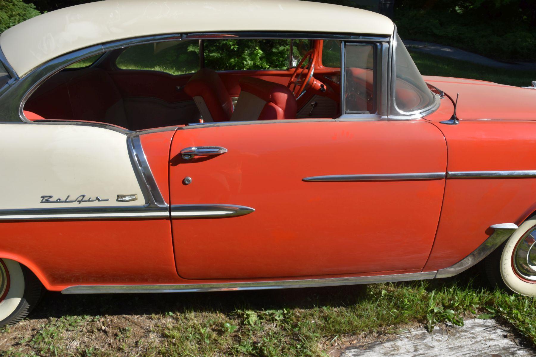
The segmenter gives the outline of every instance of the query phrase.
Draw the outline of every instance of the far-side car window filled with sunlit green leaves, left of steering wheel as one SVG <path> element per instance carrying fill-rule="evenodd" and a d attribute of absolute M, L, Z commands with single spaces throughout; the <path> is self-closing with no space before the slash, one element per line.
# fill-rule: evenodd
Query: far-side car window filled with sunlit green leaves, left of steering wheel
<path fill-rule="evenodd" d="M 204 40 L 205 67 L 214 71 L 286 70 L 291 40 Z"/>

